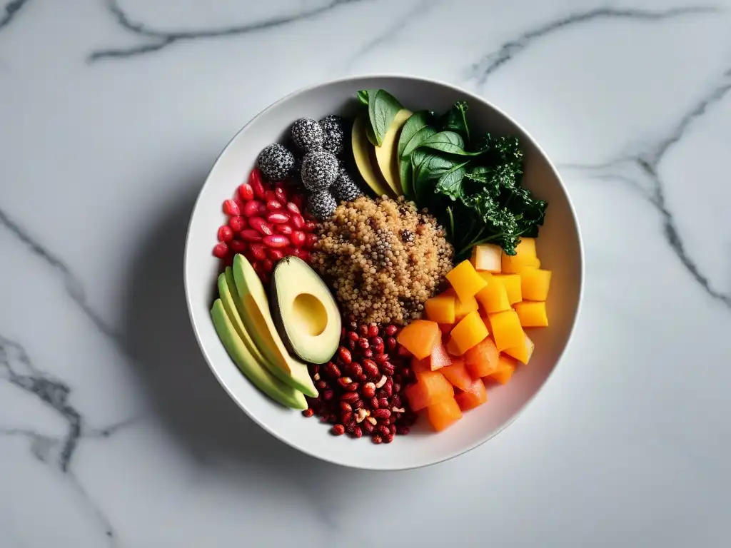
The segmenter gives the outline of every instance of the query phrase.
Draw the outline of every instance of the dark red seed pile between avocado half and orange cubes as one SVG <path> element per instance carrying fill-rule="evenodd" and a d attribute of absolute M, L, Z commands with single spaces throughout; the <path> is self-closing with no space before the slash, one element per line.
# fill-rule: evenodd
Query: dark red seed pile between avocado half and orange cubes
<path fill-rule="evenodd" d="M 408 434 L 417 415 L 402 391 L 414 382 L 414 373 L 396 335 L 395 325 L 358 325 L 349 316 L 332 361 L 309 366 L 319 396 L 307 398 L 303 415 L 330 423 L 334 435 L 368 435 L 374 444 Z"/>

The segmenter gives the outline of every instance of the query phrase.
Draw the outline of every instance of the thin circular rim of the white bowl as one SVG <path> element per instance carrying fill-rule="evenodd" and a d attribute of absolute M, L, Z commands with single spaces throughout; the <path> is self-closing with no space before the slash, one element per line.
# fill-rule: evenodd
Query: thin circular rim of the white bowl
<path fill-rule="evenodd" d="M 313 91 L 317 88 L 325 88 L 330 85 L 335 85 L 338 83 L 347 83 L 352 80 L 364 80 L 364 79 L 375 79 L 375 78 L 392 78 L 392 79 L 399 79 L 399 80 L 410 80 L 414 83 L 429 83 L 432 85 L 439 85 L 444 88 L 449 88 L 452 91 L 456 91 L 459 94 L 463 94 L 465 96 L 465 99 L 468 99 L 470 101 L 475 102 L 481 102 L 483 104 L 488 105 L 488 107 L 491 107 L 493 110 L 496 111 L 496 113 L 499 113 L 499 115 L 503 116 L 507 121 L 510 121 L 517 129 L 520 130 L 520 132 L 525 135 L 527 139 L 531 141 L 531 144 L 539 151 L 539 153 L 542 154 L 542 156 L 545 158 L 545 160 L 548 162 L 548 167 L 550 167 L 551 172 L 553 172 L 553 175 L 556 176 L 556 180 L 558 180 L 558 185 L 561 186 L 561 189 L 564 191 L 564 195 L 567 199 L 567 205 L 569 207 L 569 212 L 571 213 L 571 216 L 574 221 L 574 225 L 576 227 L 576 237 L 577 237 L 577 243 L 578 243 L 578 261 L 579 261 L 579 292 L 577 295 L 577 305 L 576 305 L 576 312 L 574 314 L 574 317 L 572 319 L 572 322 L 569 326 L 569 331 L 567 334 L 567 342 L 564 345 L 564 348 L 561 350 L 561 352 L 558 354 L 558 357 L 556 357 L 556 364 L 553 365 L 553 368 L 548 373 L 548 376 L 546 376 L 545 381 L 539 386 L 539 388 L 534 392 L 533 395 L 531 395 L 527 400 L 526 403 L 523 404 L 523 406 L 518 409 L 518 411 L 515 412 L 515 414 L 505 422 L 501 427 L 499 427 L 497 430 L 493 430 L 493 432 L 489 433 L 488 435 L 482 436 L 477 439 L 477 441 L 474 441 L 473 443 L 464 446 L 460 449 L 457 449 L 455 451 L 450 452 L 444 457 L 439 458 L 438 460 L 433 460 L 428 463 L 417 463 L 414 465 L 386 465 L 386 466 L 379 466 L 379 465 L 352 465 L 347 462 L 344 462 L 342 460 L 337 460 L 332 457 L 323 456 L 321 454 L 315 454 L 310 449 L 307 449 L 304 446 L 301 446 L 300 444 L 296 444 L 295 442 L 289 441 L 289 439 L 285 438 L 284 436 L 280 435 L 276 432 L 276 430 L 273 430 L 268 425 L 266 425 L 264 422 L 262 422 L 257 416 L 255 416 L 251 411 L 249 411 L 249 408 L 247 408 L 246 403 L 243 403 L 239 400 L 238 397 L 236 397 L 230 389 L 230 387 L 227 386 L 227 384 L 224 382 L 223 378 L 219 375 L 219 372 L 217 368 L 213 365 L 213 360 L 208 355 L 208 351 L 205 349 L 205 345 L 200 337 L 200 333 L 196 324 L 196 320 L 193 316 L 193 307 L 191 302 L 191 296 L 189 292 L 188 287 L 188 254 L 189 254 L 189 247 L 190 247 L 190 240 L 191 240 L 191 228 L 192 228 L 192 221 L 194 218 L 194 213 L 198 209 L 199 202 L 201 200 L 203 191 L 205 190 L 205 187 L 208 185 L 209 180 L 211 179 L 211 173 L 213 173 L 213 170 L 215 169 L 216 165 L 219 164 L 219 161 L 221 161 L 221 157 L 224 156 L 224 154 L 228 151 L 228 149 L 232 146 L 232 143 L 238 139 L 239 135 L 246 131 L 246 129 L 251 126 L 254 121 L 268 113 L 270 110 L 275 108 L 278 104 L 281 102 L 285 102 L 288 99 L 292 98 L 293 96 L 297 96 L 299 94 L 303 94 L 307 91 Z M 236 403 L 236 405 L 244 412 L 247 416 L 249 416 L 249 419 L 251 419 L 254 423 L 262 427 L 266 432 L 270 433 L 270 435 L 273 435 L 274 438 L 277 440 L 283 442 L 284 444 L 287 444 L 288 446 L 292 447 L 293 449 L 297 449 L 298 451 L 308 455 L 309 457 L 313 457 L 317 460 L 322 460 L 327 463 L 331 463 L 334 465 L 343 466 L 345 468 L 355 468 L 359 470 L 368 470 L 368 471 L 401 471 L 401 470 L 416 470 L 419 468 L 427 468 L 428 466 L 433 466 L 439 463 L 447 462 L 447 460 L 452 460 L 455 457 L 459 457 L 462 454 L 466 454 L 468 452 L 471 452 L 474 449 L 477 449 L 477 447 L 482 446 L 482 444 L 485 444 L 486 442 L 490 441 L 492 438 L 494 438 L 499 433 L 503 432 L 507 427 L 512 425 L 515 420 L 518 419 L 519 416 L 521 416 L 529 406 L 534 402 L 539 392 L 542 392 L 543 389 L 545 389 L 546 385 L 550 381 L 550 378 L 553 377 L 554 373 L 556 372 L 556 369 L 558 369 L 558 365 L 561 362 L 561 360 L 564 358 L 564 355 L 566 354 L 567 349 L 569 348 L 570 344 L 572 343 L 574 331 L 576 328 L 577 321 L 579 319 L 581 310 L 582 310 L 582 304 L 583 304 L 583 297 L 584 297 L 584 278 L 586 276 L 586 266 L 584 261 L 584 245 L 583 245 L 583 238 L 581 236 L 581 228 L 579 225 L 578 216 L 576 214 L 576 209 L 574 207 L 574 203 L 572 202 L 571 195 L 569 194 L 569 191 L 567 189 L 566 184 L 564 183 L 563 178 L 561 178 L 561 174 L 558 172 L 558 169 L 556 169 L 556 165 L 553 164 L 553 161 L 550 159 L 548 154 L 543 150 L 541 145 L 537 142 L 537 140 L 533 137 L 532 134 L 530 134 L 518 121 L 515 120 L 515 118 L 512 118 L 511 115 L 506 113 L 504 110 L 502 110 L 500 107 L 496 106 L 496 104 L 493 104 L 493 102 L 488 101 L 488 99 L 484 99 L 483 97 L 472 93 L 471 91 L 468 91 L 464 88 L 461 88 L 458 85 L 454 85 L 451 83 L 444 82 L 443 80 L 437 80 L 435 78 L 425 77 L 425 76 L 418 76 L 418 75 L 409 75 L 405 73 L 398 73 L 398 72 L 372 72 L 372 73 L 361 73 L 357 75 L 349 75 L 346 77 L 338 77 L 333 78 L 330 80 L 325 80 L 323 82 L 314 83 L 311 85 L 306 85 L 300 88 L 296 88 L 293 91 L 290 91 L 288 94 L 281 96 L 279 99 L 276 99 L 276 101 L 268 104 L 267 107 L 260 110 L 259 113 L 254 115 L 248 122 L 246 122 L 241 128 L 236 132 L 233 137 L 227 142 L 226 146 L 221 149 L 221 152 L 216 156 L 215 161 L 213 161 L 213 164 L 211 164 L 211 169 L 208 170 L 208 175 L 205 177 L 205 181 L 200 186 L 200 189 L 197 192 L 197 196 L 195 199 L 195 202 L 193 204 L 193 208 L 190 213 L 190 218 L 188 220 L 188 228 L 186 229 L 186 240 L 185 240 L 185 248 L 183 251 L 183 289 L 185 292 L 186 297 L 186 306 L 188 308 L 188 316 L 191 322 L 191 326 L 193 328 L 193 332 L 195 335 L 195 339 L 198 343 L 198 347 L 200 348 L 201 353 L 203 354 L 203 357 L 205 359 L 205 362 L 208 364 L 208 368 L 211 370 L 211 373 L 213 373 L 213 376 L 216 377 L 216 380 L 219 382 L 221 387 L 224 389 L 224 391 L 229 395 L 229 397 Z"/>

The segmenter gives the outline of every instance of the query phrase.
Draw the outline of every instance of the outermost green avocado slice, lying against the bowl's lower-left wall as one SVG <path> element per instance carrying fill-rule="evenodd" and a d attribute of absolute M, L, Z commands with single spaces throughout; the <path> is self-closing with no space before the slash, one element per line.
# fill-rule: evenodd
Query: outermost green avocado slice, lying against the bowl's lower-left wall
<path fill-rule="evenodd" d="M 276 402 L 281 403 L 285 407 L 292 409 L 306 409 L 307 402 L 302 392 L 298 392 L 292 387 L 281 382 L 265 370 L 265 368 L 254 359 L 249 349 L 243 343 L 233 326 L 226 312 L 221 299 L 216 299 L 211 308 L 211 319 L 213 319 L 213 327 L 221 339 L 221 343 L 228 352 L 231 359 L 238 365 L 246 378 L 254 383 L 254 386 L 268 395 Z"/>

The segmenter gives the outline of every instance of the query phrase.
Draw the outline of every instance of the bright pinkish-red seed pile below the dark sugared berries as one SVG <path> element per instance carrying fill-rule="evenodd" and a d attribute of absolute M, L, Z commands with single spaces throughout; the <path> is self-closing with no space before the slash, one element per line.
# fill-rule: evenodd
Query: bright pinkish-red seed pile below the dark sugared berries
<path fill-rule="evenodd" d="M 258 167 L 236 194 L 224 201 L 228 222 L 219 227 L 219 243 L 213 247 L 213 255 L 230 265 L 235 254 L 243 254 L 264 283 L 284 256 L 294 255 L 309 262 L 309 251 L 317 242 L 317 222 L 301 213 L 303 194 L 284 181 L 268 183 Z"/>

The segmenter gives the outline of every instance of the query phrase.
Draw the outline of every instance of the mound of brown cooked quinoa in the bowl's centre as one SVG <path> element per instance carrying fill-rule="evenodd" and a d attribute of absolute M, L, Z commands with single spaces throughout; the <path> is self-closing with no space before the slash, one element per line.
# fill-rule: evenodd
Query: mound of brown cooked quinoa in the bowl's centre
<path fill-rule="evenodd" d="M 313 266 L 344 313 L 365 323 L 404 325 L 452 268 L 454 248 L 436 219 L 403 197 L 344 202 L 322 224 Z"/>

